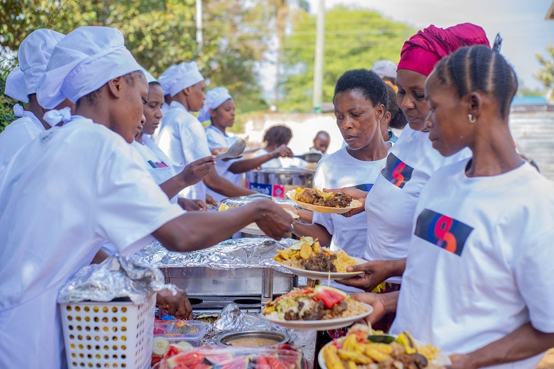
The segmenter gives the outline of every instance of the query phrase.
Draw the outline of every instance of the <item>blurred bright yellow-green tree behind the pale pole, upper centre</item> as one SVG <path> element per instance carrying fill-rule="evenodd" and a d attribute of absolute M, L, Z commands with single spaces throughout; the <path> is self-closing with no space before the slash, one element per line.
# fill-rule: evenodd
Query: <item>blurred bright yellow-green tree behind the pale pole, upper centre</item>
<path fill-rule="evenodd" d="M 286 75 L 279 81 L 283 111 L 312 111 L 316 17 L 294 14 L 294 30 L 285 38 Z M 325 13 L 323 101 L 330 102 L 337 79 L 348 69 L 370 68 L 379 59 L 397 63 L 404 41 L 415 28 L 378 12 L 337 6 Z"/>

